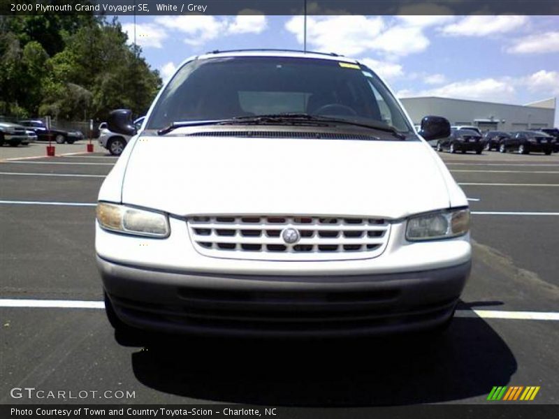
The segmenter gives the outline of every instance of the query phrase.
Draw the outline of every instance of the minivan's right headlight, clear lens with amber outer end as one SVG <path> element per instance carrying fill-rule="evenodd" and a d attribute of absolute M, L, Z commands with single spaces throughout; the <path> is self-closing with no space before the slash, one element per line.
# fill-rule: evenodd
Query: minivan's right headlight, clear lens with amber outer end
<path fill-rule="evenodd" d="M 419 240 L 449 239 L 465 235 L 470 230 L 470 210 L 444 210 L 412 216 L 407 220 L 406 239 Z"/>

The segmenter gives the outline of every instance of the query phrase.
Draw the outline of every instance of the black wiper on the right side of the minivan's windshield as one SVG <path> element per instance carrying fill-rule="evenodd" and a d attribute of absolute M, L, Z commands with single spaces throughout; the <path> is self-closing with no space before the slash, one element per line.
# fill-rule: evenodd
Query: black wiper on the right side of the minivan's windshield
<path fill-rule="evenodd" d="M 310 115 L 307 113 L 297 113 L 297 112 L 286 112 L 280 114 L 270 114 L 270 115 L 254 115 L 246 117 L 233 117 L 231 119 L 226 119 L 223 122 L 219 122 L 220 125 L 225 124 L 282 124 L 285 122 L 291 123 L 324 123 L 324 124 L 347 124 L 353 126 L 360 126 L 362 128 L 374 129 L 377 131 L 383 131 L 386 133 L 391 133 L 394 137 L 399 140 L 405 140 L 406 136 L 400 133 L 395 127 L 387 124 L 363 124 L 361 122 L 349 121 L 342 118 L 331 118 L 331 117 L 321 117 L 319 115 Z"/>

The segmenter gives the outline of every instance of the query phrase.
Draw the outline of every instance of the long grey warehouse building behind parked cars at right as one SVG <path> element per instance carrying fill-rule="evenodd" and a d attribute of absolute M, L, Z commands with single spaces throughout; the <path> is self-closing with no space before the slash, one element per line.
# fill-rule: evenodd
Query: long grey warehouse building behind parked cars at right
<path fill-rule="evenodd" d="M 466 101 L 436 96 L 400 98 L 414 124 L 426 115 L 447 118 L 452 125 L 474 125 L 481 131 L 553 128 L 556 98 L 526 105 Z"/>

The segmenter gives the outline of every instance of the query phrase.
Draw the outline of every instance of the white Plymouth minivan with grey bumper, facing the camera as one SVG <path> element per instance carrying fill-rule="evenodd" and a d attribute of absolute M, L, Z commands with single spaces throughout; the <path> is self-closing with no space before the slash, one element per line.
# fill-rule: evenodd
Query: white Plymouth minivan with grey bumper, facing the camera
<path fill-rule="evenodd" d="M 130 132 L 129 112 L 108 128 Z M 369 335 L 442 330 L 470 273 L 470 212 L 359 61 L 191 57 L 99 191 L 96 258 L 118 330 Z"/>

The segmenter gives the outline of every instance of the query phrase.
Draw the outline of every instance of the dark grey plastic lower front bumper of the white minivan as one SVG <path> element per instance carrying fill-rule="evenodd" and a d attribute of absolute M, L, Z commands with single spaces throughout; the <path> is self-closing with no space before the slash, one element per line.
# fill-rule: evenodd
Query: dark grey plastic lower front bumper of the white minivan
<path fill-rule="evenodd" d="M 416 272 L 265 275 L 149 269 L 97 256 L 117 316 L 137 328 L 203 335 L 343 336 L 447 321 L 470 260 Z"/>

